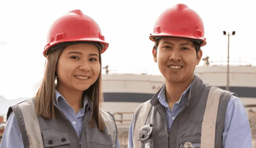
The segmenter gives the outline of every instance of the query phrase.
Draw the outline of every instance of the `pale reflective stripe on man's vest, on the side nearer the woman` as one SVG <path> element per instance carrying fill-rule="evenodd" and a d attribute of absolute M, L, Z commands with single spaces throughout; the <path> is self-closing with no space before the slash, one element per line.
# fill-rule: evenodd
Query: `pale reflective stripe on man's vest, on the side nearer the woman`
<path fill-rule="evenodd" d="M 137 109 L 137 111 L 135 111 L 135 113 L 134 113 L 134 114 L 138 114 L 138 118 L 136 118 L 136 120 L 134 120 L 135 118 L 133 118 L 133 127 L 132 127 L 132 129 L 134 131 L 133 136 L 132 136 L 133 148 L 141 148 L 141 142 L 137 139 L 139 138 L 138 136 L 139 136 L 140 128 L 145 125 L 147 117 L 148 117 L 148 113 L 152 107 L 152 105 L 150 104 L 150 101 L 151 100 L 148 100 L 145 103 L 142 103 L 138 107 L 138 109 L 140 109 L 140 111 L 138 112 L 138 109 Z"/>

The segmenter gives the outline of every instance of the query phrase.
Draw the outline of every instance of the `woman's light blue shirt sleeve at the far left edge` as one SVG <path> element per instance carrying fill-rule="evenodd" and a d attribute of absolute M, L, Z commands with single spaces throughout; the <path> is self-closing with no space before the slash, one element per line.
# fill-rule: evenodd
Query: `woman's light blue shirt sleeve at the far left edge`
<path fill-rule="evenodd" d="M 22 136 L 14 112 L 6 122 L 0 148 L 24 148 Z"/>

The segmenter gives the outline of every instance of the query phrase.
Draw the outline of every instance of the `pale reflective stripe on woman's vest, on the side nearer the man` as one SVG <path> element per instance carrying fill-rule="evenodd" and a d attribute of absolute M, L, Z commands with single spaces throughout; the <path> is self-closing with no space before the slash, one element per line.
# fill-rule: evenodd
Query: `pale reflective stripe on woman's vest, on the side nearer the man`
<path fill-rule="evenodd" d="M 117 126 L 116 126 L 116 120 L 114 118 L 114 115 L 104 109 L 102 109 L 101 111 L 102 111 L 101 112 L 102 118 L 106 123 L 108 134 L 111 135 L 112 146 L 113 148 L 116 148 Z"/>

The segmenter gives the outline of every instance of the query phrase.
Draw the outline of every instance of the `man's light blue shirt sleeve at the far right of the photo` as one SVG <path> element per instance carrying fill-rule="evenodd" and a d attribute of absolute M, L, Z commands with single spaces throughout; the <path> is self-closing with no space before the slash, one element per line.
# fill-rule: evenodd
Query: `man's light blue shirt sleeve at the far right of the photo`
<path fill-rule="evenodd" d="M 252 133 L 244 105 L 238 97 L 232 95 L 228 102 L 223 148 L 252 148 Z"/>

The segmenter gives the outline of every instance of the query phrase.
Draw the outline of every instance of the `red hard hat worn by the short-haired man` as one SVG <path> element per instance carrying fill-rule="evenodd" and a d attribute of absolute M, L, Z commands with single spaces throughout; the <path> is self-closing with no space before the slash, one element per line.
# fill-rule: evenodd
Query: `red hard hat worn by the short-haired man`
<path fill-rule="evenodd" d="M 182 37 L 199 40 L 201 46 L 206 45 L 202 19 L 185 4 L 176 4 L 159 16 L 149 39 L 156 41 L 157 37 Z"/>

